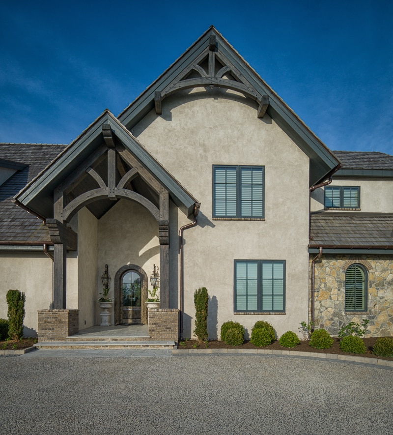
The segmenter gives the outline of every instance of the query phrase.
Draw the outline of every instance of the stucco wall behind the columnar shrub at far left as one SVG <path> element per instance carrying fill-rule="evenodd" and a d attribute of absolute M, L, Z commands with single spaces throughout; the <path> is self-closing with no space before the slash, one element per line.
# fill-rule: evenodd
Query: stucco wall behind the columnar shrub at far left
<path fill-rule="evenodd" d="M 7 319 L 9 289 L 26 295 L 24 335 L 37 335 L 37 310 L 52 308 L 53 262 L 43 252 L 0 251 L 0 318 Z"/>

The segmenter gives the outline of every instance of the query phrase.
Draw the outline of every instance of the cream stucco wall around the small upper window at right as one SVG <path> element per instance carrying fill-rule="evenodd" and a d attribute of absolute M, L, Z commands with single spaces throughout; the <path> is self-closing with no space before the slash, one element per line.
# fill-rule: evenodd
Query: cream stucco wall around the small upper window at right
<path fill-rule="evenodd" d="M 330 186 L 360 186 L 360 208 L 365 213 L 391 213 L 393 210 L 393 179 L 333 179 Z M 323 210 L 324 189 L 311 193 L 311 211 Z M 334 209 L 331 209 L 335 211 Z"/>

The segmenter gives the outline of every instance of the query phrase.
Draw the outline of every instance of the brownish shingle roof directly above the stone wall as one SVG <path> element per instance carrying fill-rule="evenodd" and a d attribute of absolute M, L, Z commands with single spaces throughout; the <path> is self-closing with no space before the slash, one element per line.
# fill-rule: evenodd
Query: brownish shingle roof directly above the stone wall
<path fill-rule="evenodd" d="M 311 213 L 309 247 L 393 249 L 393 213 Z"/>

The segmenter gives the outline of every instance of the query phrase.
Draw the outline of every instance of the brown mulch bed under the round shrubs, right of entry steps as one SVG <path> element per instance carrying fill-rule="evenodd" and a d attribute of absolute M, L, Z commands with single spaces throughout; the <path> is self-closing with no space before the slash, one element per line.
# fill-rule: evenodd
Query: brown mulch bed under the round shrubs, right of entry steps
<path fill-rule="evenodd" d="M 386 359 L 388 361 L 393 361 L 393 358 L 384 358 L 381 356 L 376 356 L 371 353 L 373 346 L 377 340 L 376 337 L 364 338 L 365 347 L 367 353 L 346 353 L 343 352 L 339 347 L 338 338 L 333 338 L 333 346 L 329 349 L 315 349 L 309 346 L 307 341 L 301 341 L 300 345 L 295 348 L 283 348 L 278 340 L 274 341 L 270 346 L 256 347 L 249 340 L 245 340 L 242 346 L 228 346 L 220 340 L 211 340 L 207 344 L 205 342 L 200 342 L 198 340 L 184 340 L 177 346 L 178 349 L 272 349 L 272 350 L 299 350 L 301 352 L 315 352 L 315 353 L 336 353 L 338 355 L 353 355 L 353 356 L 364 356 L 367 358 L 379 358 Z"/>

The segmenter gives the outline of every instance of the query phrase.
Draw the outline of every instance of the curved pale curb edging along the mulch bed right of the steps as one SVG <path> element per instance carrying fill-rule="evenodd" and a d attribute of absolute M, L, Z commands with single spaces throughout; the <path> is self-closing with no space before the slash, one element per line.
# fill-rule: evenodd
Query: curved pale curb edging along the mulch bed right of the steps
<path fill-rule="evenodd" d="M 393 361 L 379 358 L 367 358 L 365 356 L 337 355 L 337 353 L 301 352 L 299 350 L 272 350 L 272 349 L 173 349 L 172 355 L 205 354 L 214 353 L 251 353 L 265 355 L 305 356 L 310 358 L 333 359 L 338 361 L 352 361 L 364 364 L 393 367 Z"/>

